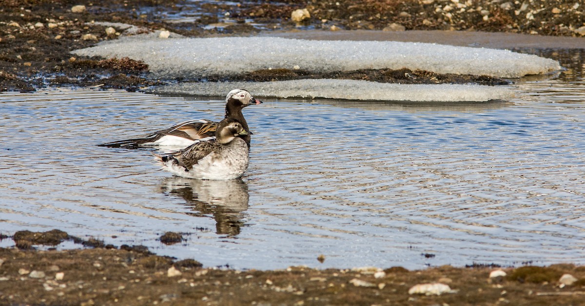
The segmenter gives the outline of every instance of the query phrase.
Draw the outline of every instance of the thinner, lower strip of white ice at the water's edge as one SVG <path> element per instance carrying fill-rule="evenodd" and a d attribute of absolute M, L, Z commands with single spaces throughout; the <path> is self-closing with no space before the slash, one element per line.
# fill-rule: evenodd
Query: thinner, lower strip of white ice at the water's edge
<path fill-rule="evenodd" d="M 349 79 L 301 79 L 278 82 L 185 82 L 161 86 L 160 93 L 224 96 L 243 88 L 254 96 L 277 98 L 330 98 L 393 101 L 488 101 L 514 96 L 510 86 L 467 84 L 401 85 Z"/>

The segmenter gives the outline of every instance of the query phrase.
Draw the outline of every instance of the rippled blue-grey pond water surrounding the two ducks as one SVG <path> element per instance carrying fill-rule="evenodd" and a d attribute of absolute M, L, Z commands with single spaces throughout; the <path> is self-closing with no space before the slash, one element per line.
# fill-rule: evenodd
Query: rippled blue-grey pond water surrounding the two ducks
<path fill-rule="evenodd" d="M 96 146 L 219 120 L 221 98 L 1 93 L 0 232 L 59 228 L 236 268 L 585 264 L 583 54 L 542 54 L 569 69 L 510 101 L 247 107 L 252 160 L 229 182 Z M 187 241 L 163 245 L 166 231 Z"/>

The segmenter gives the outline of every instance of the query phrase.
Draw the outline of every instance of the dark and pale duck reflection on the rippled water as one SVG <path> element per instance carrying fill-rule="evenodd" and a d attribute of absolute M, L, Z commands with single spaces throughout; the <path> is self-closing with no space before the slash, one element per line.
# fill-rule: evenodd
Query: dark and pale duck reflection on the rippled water
<path fill-rule="evenodd" d="M 242 179 L 199 180 L 172 176 L 163 179 L 162 193 L 183 198 L 195 217 L 213 215 L 216 234 L 236 236 L 244 225 L 242 212 L 248 208 L 248 186 Z"/>

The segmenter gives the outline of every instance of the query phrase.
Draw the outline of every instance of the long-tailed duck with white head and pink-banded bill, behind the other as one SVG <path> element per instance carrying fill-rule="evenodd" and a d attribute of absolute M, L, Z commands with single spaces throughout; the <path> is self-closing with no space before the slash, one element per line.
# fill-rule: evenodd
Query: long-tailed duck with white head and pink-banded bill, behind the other
<path fill-rule="evenodd" d="M 243 89 L 233 89 L 225 98 L 225 118 L 236 119 L 242 124 L 244 130 L 248 132 L 248 134 L 242 136 L 248 147 L 250 147 L 250 134 L 252 133 L 250 133 L 250 128 L 246 119 L 244 119 L 242 109 L 246 106 L 259 105 L 260 103 L 262 101 L 254 99 L 248 91 Z M 157 131 L 144 138 L 113 141 L 99 144 L 99 146 L 137 148 L 153 145 L 170 145 L 184 148 L 194 144 L 198 140 L 214 136 L 217 126 L 218 123 L 210 120 L 188 120 L 175 124 L 165 130 Z"/>

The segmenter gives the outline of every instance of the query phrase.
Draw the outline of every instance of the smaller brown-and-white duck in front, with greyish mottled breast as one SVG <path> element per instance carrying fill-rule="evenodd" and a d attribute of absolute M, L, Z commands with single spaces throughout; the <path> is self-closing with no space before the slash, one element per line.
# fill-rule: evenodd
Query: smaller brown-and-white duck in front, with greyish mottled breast
<path fill-rule="evenodd" d="M 248 168 L 248 146 L 243 137 L 248 132 L 232 118 L 219 122 L 215 138 L 199 140 L 181 151 L 154 154 L 163 169 L 183 178 L 236 179 Z"/>

